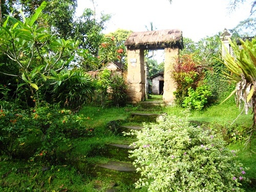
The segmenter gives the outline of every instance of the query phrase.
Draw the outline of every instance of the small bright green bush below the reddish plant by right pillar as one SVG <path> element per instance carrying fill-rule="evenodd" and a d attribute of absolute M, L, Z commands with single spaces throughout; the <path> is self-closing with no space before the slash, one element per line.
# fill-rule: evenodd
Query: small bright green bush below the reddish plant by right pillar
<path fill-rule="evenodd" d="M 184 98 L 182 106 L 185 108 L 201 111 L 208 103 L 208 99 L 211 96 L 208 86 L 197 87 L 196 90 L 188 88 L 188 96 Z"/>

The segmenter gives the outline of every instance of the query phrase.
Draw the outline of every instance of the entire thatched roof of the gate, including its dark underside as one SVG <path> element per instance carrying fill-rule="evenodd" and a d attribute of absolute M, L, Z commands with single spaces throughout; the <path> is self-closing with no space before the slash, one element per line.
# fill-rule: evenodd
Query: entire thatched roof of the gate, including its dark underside
<path fill-rule="evenodd" d="M 134 32 L 124 42 L 127 49 L 164 49 L 167 47 L 183 48 L 182 31 L 167 29 L 159 31 Z"/>

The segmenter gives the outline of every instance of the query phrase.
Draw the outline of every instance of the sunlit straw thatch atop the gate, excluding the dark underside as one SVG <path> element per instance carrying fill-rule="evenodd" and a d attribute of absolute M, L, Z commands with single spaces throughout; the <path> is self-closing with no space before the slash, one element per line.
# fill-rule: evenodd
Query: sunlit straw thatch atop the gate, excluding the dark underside
<path fill-rule="evenodd" d="M 161 44 L 176 44 L 182 41 L 182 31 L 179 29 L 173 30 L 159 30 L 159 31 L 145 31 L 134 32 L 124 42 L 125 46 L 140 45 L 161 45 Z"/>

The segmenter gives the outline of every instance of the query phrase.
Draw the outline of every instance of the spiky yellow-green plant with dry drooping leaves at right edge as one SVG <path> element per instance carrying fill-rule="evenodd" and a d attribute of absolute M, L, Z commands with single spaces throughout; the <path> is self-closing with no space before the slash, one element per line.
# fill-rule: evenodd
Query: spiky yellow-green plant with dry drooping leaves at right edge
<path fill-rule="evenodd" d="M 229 80 L 237 83 L 236 89 L 230 94 L 236 94 L 237 104 L 244 102 L 245 113 L 248 113 L 249 106 L 253 110 L 253 126 L 256 123 L 256 38 L 252 41 L 240 39 L 242 49 L 236 42 L 229 40 L 234 56 L 226 50 L 224 65 L 231 74 L 224 72 Z M 229 96 L 229 97 L 230 97 Z M 228 97 L 228 98 L 229 98 Z M 226 99 L 225 99 L 226 100 Z M 224 101 L 223 101 L 224 102 Z"/>

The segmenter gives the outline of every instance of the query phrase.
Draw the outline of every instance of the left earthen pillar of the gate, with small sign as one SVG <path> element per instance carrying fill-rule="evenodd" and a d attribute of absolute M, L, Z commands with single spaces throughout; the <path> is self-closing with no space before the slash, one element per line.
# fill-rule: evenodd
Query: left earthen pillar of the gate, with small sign
<path fill-rule="evenodd" d="M 127 96 L 128 101 L 137 103 L 145 100 L 144 50 L 127 50 Z"/>

